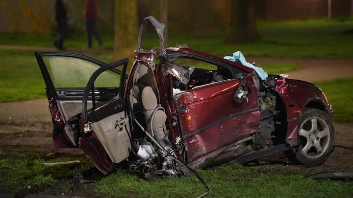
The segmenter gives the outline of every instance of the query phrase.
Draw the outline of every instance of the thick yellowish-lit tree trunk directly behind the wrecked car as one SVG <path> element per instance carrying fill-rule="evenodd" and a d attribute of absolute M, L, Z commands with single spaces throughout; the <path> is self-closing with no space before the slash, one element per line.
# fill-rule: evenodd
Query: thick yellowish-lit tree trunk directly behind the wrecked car
<path fill-rule="evenodd" d="M 134 61 L 137 48 L 138 17 L 136 0 L 115 0 L 114 2 L 114 61 L 129 58 Z"/>

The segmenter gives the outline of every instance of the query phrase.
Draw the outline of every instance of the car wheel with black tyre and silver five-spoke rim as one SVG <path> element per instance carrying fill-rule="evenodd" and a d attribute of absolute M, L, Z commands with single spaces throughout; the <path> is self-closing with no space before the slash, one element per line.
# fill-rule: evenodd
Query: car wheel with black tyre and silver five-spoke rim
<path fill-rule="evenodd" d="M 322 110 L 305 108 L 298 125 L 299 147 L 285 152 L 293 162 L 316 166 L 325 162 L 333 151 L 334 128 Z"/>

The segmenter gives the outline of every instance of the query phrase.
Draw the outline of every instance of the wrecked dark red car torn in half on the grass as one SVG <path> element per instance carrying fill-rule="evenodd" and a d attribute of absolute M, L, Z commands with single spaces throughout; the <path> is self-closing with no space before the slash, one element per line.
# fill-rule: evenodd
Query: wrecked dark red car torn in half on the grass
<path fill-rule="evenodd" d="M 149 23 L 163 46 L 164 24 L 147 17 L 128 75 L 128 59 L 105 64 L 77 53 L 35 52 L 53 149 L 82 149 L 103 174 L 128 162 L 129 171 L 146 177 L 280 152 L 306 166 L 325 162 L 334 128 L 322 89 L 186 45 L 146 50 Z"/>

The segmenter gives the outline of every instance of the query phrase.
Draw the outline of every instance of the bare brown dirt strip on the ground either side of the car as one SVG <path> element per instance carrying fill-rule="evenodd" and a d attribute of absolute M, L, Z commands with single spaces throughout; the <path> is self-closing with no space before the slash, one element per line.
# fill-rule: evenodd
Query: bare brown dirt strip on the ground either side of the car
<path fill-rule="evenodd" d="M 353 123 L 334 123 L 335 149 L 328 160 L 316 167 L 304 167 L 291 163 L 283 154 L 262 159 L 259 165 L 273 168 L 289 168 L 300 170 L 348 171 L 353 172 Z M 36 151 L 45 153 L 83 154 L 80 149 L 52 150 L 52 124 L 50 122 L 0 123 L 0 150 Z"/>

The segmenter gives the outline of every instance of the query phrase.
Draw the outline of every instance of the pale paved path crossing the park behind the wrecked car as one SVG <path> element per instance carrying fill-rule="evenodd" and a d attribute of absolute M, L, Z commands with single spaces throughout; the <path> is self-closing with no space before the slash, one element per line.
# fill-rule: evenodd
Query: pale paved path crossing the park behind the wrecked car
<path fill-rule="evenodd" d="M 27 49 L 36 51 L 56 51 L 54 47 L 37 46 L 7 46 L 0 48 Z M 82 49 L 68 48 L 67 51 L 80 52 Z M 95 50 L 97 51 L 97 50 Z M 113 53 L 112 50 L 100 50 L 102 53 Z M 353 76 L 353 59 L 294 59 L 294 58 L 267 58 L 246 57 L 249 62 L 293 63 L 303 67 L 298 71 L 288 72 L 288 78 L 308 82 L 332 80 Z M 43 91 L 44 88 L 43 88 Z M 50 113 L 47 99 L 29 100 L 22 102 L 0 103 L 0 122 L 50 122 Z"/>

